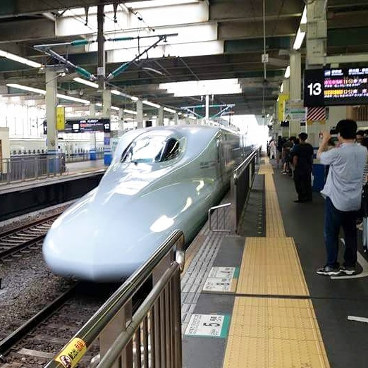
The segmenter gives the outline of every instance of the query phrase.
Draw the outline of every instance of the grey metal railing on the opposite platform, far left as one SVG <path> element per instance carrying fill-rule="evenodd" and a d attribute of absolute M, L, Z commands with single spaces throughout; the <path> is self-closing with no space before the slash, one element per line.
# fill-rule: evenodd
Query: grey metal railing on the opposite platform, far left
<path fill-rule="evenodd" d="M 66 171 L 65 157 L 12 157 L 0 161 L 0 184 L 62 175 Z"/>

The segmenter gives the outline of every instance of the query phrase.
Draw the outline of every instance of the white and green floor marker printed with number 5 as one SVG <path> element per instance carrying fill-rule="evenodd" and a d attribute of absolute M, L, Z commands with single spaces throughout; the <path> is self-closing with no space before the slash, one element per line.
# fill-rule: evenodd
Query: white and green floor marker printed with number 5
<path fill-rule="evenodd" d="M 192 314 L 185 335 L 226 338 L 229 321 L 227 314 Z"/>

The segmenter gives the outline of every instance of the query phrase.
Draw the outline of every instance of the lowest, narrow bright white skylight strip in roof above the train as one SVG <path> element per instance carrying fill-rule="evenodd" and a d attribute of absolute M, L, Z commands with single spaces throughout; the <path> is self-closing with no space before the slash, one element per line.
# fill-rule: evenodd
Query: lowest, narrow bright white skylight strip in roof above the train
<path fill-rule="evenodd" d="M 159 88 L 167 90 L 175 97 L 240 94 L 243 92 L 239 80 L 236 78 L 161 83 Z"/>

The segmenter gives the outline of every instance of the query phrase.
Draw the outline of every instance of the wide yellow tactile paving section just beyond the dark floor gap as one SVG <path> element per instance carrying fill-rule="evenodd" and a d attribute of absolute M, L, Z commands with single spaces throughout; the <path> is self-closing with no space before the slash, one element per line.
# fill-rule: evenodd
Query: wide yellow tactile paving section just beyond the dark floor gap
<path fill-rule="evenodd" d="M 293 238 L 247 238 L 237 293 L 309 295 Z"/>

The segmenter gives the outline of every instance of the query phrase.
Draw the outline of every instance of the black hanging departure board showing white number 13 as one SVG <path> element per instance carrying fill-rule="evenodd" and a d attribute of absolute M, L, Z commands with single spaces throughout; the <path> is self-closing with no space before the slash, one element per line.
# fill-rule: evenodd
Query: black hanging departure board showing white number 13
<path fill-rule="evenodd" d="M 305 70 L 305 106 L 368 104 L 368 68 Z"/>

